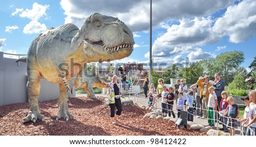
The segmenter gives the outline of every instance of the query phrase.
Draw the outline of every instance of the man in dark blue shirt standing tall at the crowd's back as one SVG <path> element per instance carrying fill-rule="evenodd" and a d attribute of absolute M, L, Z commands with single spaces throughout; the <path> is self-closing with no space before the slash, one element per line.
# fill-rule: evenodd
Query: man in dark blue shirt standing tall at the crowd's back
<path fill-rule="evenodd" d="M 213 87 L 215 87 L 215 94 L 217 95 L 217 99 L 218 99 L 218 109 L 220 108 L 220 102 L 222 99 L 221 93 L 224 90 L 225 87 L 225 82 L 221 79 L 221 75 L 220 73 L 215 73 L 214 74 L 215 80 L 214 80 L 214 85 Z"/>

